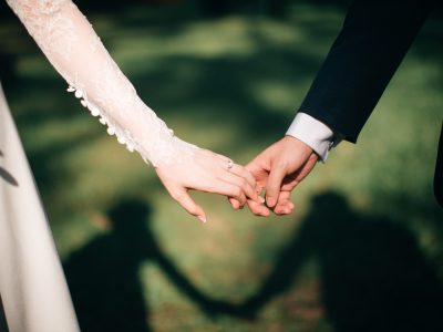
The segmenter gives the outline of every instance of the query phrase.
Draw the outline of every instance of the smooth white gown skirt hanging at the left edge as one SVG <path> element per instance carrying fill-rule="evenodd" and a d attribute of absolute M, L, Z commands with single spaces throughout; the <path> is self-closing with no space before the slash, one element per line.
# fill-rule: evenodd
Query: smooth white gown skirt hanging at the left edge
<path fill-rule="evenodd" d="M 79 331 L 52 235 L 1 85 L 0 297 L 11 332 Z"/>

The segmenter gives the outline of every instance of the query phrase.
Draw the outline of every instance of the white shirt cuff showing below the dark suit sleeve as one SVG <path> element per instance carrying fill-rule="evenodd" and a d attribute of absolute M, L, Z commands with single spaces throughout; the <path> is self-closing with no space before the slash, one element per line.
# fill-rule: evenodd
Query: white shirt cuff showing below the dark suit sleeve
<path fill-rule="evenodd" d="M 322 162 L 328 158 L 332 146 L 338 144 L 333 142 L 334 135 L 331 128 L 302 112 L 297 113 L 286 135 L 296 137 L 309 145 Z"/>

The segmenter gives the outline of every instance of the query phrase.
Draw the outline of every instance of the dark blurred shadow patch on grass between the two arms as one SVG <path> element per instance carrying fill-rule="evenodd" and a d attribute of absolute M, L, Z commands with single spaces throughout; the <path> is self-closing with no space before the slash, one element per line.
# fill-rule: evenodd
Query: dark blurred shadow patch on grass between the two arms
<path fill-rule="evenodd" d="M 163 116 L 171 115 L 168 110 L 183 108 L 186 110 L 183 116 L 192 118 L 198 126 L 216 122 L 241 127 L 244 146 L 261 145 L 264 141 L 280 137 L 293 114 L 285 114 L 287 110 L 281 110 L 278 101 L 274 105 L 261 102 L 254 84 L 275 80 L 278 84 L 293 85 L 307 79 L 317 63 L 296 51 L 270 49 L 264 43 L 255 55 L 239 59 L 173 56 L 167 61 L 169 71 L 152 71 L 150 77 L 135 76 L 134 82 L 141 86 L 142 94 L 151 95 L 150 104 L 158 105 L 155 108 Z M 267 61 L 274 64 L 266 66 Z M 184 70 L 193 72 L 195 77 L 181 76 Z M 157 92 L 152 93 L 154 91 Z M 236 146 L 237 142 L 225 148 Z"/>

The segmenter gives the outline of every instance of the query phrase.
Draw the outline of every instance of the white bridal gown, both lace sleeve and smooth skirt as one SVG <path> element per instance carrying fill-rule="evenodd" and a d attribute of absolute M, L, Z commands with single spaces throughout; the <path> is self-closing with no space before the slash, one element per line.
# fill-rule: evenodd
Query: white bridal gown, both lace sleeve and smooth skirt
<path fill-rule="evenodd" d="M 7 2 L 66 81 L 68 91 L 128 151 L 157 166 L 179 163 L 198 149 L 177 138 L 143 103 L 72 1 Z M 79 331 L 52 235 L 2 91 L 0 299 L 0 331 Z"/>

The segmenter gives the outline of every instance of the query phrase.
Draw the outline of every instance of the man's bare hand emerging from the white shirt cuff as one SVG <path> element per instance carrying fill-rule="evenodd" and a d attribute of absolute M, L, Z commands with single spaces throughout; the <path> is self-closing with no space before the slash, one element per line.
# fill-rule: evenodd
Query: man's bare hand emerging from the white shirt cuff
<path fill-rule="evenodd" d="M 260 153 L 247 166 L 259 188 L 266 188 L 266 205 L 277 215 L 288 215 L 293 209 L 290 201 L 292 189 L 316 166 L 318 155 L 303 142 L 285 136 Z M 234 208 L 238 203 L 231 199 Z M 253 214 L 269 216 L 269 209 L 248 200 Z"/>

